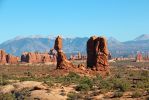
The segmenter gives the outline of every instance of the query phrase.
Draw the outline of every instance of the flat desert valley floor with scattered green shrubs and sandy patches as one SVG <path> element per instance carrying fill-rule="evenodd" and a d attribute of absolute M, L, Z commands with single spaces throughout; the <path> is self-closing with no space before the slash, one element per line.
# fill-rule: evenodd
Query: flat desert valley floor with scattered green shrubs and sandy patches
<path fill-rule="evenodd" d="M 73 61 L 74 65 L 86 61 Z M 55 64 L 0 65 L 0 100 L 148 100 L 149 62 L 110 62 L 110 75 Z"/>

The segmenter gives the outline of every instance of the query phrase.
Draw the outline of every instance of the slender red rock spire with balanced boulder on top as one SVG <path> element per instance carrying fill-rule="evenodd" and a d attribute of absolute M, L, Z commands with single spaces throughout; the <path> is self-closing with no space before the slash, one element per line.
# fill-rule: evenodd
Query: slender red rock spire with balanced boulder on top
<path fill-rule="evenodd" d="M 66 55 L 62 50 L 62 38 L 58 36 L 55 40 L 54 49 L 57 51 L 57 69 L 67 69 L 73 64 L 67 60 Z"/>

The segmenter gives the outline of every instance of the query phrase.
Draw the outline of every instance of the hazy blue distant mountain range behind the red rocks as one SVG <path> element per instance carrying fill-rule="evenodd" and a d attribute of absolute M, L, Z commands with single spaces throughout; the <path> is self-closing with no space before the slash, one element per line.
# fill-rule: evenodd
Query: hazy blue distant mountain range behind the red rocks
<path fill-rule="evenodd" d="M 65 53 L 86 54 L 86 42 L 88 37 L 63 38 L 63 50 Z M 0 49 L 20 56 L 22 52 L 48 52 L 54 46 L 54 37 L 29 36 L 16 37 L 0 44 Z M 149 34 L 143 34 L 134 40 L 120 42 L 113 37 L 108 38 L 108 48 L 114 57 L 128 57 L 135 55 L 137 51 L 149 52 Z"/>

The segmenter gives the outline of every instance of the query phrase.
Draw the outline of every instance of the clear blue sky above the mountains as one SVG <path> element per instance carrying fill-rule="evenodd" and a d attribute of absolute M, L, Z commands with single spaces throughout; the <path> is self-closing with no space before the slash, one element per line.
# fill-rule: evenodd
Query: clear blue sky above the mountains
<path fill-rule="evenodd" d="M 149 0 L 0 0 L 0 43 L 16 36 L 149 34 Z"/>

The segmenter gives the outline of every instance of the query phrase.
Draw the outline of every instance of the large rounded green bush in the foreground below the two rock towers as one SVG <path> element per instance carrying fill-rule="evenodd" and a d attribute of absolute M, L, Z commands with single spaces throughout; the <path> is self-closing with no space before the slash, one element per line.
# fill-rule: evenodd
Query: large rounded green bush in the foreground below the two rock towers
<path fill-rule="evenodd" d="M 77 91 L 89 91 L 93 87 L 93 81 L 88 77 L 82 77 L 79 85 L 76 87 Z"/>

